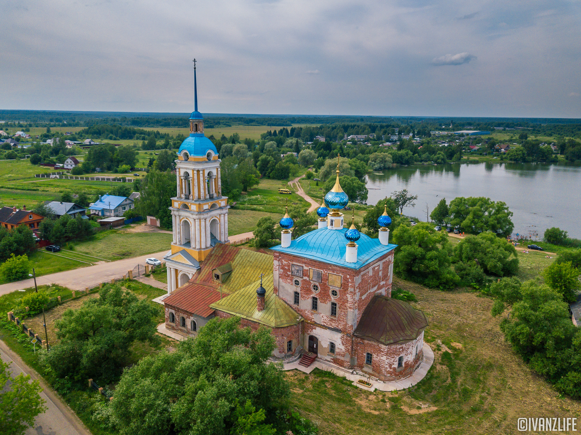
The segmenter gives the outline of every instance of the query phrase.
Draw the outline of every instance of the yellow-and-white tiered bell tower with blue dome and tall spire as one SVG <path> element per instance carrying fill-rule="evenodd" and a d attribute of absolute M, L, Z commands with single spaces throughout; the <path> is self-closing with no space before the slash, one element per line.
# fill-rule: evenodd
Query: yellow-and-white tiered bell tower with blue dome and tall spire
<path fill-rule="evenodd" d="M 189 117 L 190 133 L 175 160 L 177 195 L 170 207 L 173 241 L 171 255 L 166 257 L 168 293 L 192 278 L 199 261 L 217 243 L 228 242 L 228 198 L 222 196 L 218 151 L 204 136 L 204 118 L 198 112 L 195 60 L 193 83 L 195 110 Z"/>

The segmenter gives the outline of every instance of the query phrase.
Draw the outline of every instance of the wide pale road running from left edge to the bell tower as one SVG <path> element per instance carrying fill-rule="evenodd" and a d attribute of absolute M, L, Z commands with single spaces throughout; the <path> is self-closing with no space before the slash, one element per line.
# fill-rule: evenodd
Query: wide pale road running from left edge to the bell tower
<path fill-rule="evenodd" d="M 55 283 L 69 287 L 72 290 L 84 290 L 85 287 L 95 287 L 101 282 L 107 282 L 113 278 L 127 274 L 127 271 L 134 268 L 137 264 L 145 264 L 146 258 L 156 257 L 161 259 L 168 250 L 166 249 L 141 257 L 110 261 L 109 263 L 103 261 L 94 266 L 58 272 L 51 275 L 37 276 L 37 284 Z M 34 280 L 32 278 L 0 285 L 0 295 L 14 292 L 15 290 L 27 289 L 28 287 L 34 287 Z"/>

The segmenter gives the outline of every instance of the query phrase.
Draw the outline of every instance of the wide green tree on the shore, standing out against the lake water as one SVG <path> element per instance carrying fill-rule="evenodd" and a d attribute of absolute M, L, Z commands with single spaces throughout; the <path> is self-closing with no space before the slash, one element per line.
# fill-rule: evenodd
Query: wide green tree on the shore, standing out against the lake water
<path fill-rule="evenodd" d="M 502 201 L 494 202 L 490 198 L 462 197 L 450 201 L 449 213 L 451 225 L 460 227 L 469 234 L 479 234 L 483 231 L 492 231 L 499 236 L 510 236 L 512 211 Z"/>

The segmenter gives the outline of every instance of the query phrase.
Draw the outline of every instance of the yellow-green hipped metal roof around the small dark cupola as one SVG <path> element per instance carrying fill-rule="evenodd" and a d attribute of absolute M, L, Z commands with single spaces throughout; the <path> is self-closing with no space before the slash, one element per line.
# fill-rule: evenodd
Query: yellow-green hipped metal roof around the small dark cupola
<path fill-rule="evenodd" d="M 236 270 L 236 268 L 234 268 Z M 260 279 L 211 304 L 215 310 L 227 312 L 272 328 L 296 325 L 302 317 L 274 294 L 272 272 L 263 277 L 262 286 L 266 289 L 264 296 L 264 310 L 256 309 L 256 289 L 260 286 Z"/>

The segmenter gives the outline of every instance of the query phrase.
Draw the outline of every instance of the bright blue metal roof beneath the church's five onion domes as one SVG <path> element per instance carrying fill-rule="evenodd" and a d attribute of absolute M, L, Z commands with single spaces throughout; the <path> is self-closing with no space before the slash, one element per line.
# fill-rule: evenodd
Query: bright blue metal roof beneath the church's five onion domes
<path fill-rule="evenodd" d="M 296 240 L 292 240 L 288 248 L 278 245 L 271 249 L 297 257 L 310 258 L 311 260 L 323 261 L 324 263 L 336 264 L 351 269 L 360 269 L 365 264 L 371 263 L 371 261 L 395 249 L 397 246 L 391 244 L 382 245 L 379 243 L 379 239 L 372 239 L 368 235 L 361 234 L 361 238 L 357 242 L 357 263 L 347 263 L 345 261 L 346 231 L 346 228 L 315 229 Z"/>

